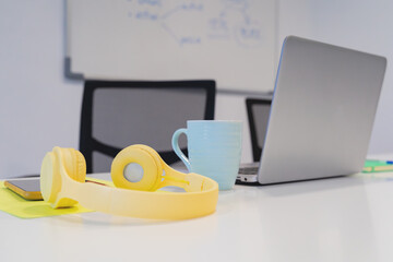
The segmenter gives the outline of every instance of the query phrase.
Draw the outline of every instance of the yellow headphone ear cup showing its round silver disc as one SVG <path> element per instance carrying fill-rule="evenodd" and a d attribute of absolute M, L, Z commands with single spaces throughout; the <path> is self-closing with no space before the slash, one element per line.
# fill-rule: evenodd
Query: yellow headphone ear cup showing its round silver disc
<path fill-rule="evenodd" d="M 131 145 L 117 154 L 110 174 L 118 188 L 154 191 L 160 182 L 163 167 L 156 155 L 139 145 Z M 139 177 L 139 180 L 132 177 Z"/>

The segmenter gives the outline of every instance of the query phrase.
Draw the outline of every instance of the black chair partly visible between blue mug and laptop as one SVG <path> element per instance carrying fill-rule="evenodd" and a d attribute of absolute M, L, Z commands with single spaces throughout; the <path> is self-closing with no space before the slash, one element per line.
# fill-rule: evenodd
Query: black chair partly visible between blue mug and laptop
<path fill-rule="evenodd" d="M 262 147 L 267 131 L 271 104 L 271 98 L 246 99 L 252 145 L 252 158 L 254 162 L 259 162 L 261 158 Z"/>

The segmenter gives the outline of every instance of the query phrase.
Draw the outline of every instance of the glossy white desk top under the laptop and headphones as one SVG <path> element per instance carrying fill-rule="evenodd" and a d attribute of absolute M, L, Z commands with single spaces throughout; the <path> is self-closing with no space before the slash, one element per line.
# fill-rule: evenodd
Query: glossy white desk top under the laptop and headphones
<path fill-rule="evenodd" d="M 0 212 L 0 261 L 392 261 L 389 176 L 236 186 L 215 214 L 179 222 Z"/>

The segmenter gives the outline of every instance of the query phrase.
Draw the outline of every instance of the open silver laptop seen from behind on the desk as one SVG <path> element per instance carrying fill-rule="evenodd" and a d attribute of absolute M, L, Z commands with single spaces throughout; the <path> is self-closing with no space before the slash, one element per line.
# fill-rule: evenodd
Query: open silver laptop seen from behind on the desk
<path fill-rule="evenodd" d="M 238 180 L 269 184 L 359 172 L 385 68 L 383 57 L 287 37 L 260 163 L 255 172 L 240 168 Z"/>

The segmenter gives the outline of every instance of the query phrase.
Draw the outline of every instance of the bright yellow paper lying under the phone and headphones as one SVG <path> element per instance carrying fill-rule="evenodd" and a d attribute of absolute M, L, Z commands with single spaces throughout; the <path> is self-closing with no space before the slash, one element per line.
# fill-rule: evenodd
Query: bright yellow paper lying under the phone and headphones
<path fill-rule="evenodd" d="M 100 179 L 88 178 L 88 180 L 110 184 L 110 182 Z M 50 205 L 45 201 L 25 200 L 5 188 L 4 181 L 0 181 L 0 211 L 7 212 L 20 218 L 37 218 L 45 216 L 92 212 L 91 210 L 84 209 L 81 205 L 75 205 L 74 207 L 70 209 L 55 210 L 50 207 Z"/>

